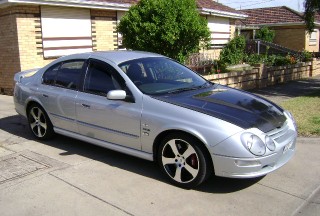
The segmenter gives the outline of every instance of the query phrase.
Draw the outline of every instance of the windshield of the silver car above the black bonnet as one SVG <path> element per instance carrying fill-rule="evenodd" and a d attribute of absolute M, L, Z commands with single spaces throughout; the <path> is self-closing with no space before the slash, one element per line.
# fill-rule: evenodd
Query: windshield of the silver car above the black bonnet
<path fill-rule="evenodd" d="M 192 70 L 164 57 L 135 59 L 119 67 L 145 94 L 167 94 L 209 85 Z"/>

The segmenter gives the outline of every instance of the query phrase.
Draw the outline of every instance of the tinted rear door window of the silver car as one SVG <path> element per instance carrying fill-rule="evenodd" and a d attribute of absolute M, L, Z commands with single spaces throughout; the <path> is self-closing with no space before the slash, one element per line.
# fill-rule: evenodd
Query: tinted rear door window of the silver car
<path fill-rule="evenodd" d="M 78 89 L 84 60 L 60 62 L 50 67 L 43 75 L 43 84 Z"/>

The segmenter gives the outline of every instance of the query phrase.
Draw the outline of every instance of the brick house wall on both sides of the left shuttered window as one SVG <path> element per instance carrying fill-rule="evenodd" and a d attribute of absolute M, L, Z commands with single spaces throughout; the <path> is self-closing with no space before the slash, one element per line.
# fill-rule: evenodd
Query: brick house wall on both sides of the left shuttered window
<path fill-rule="evenodd" d="M 90 16 L 93 50 L 117 49 L 116 11 L 90 10 Z M 0 93 L 12 94 L 15 73 L 56 59 L 43 54 L 41 7 L 0 8 Z"/>

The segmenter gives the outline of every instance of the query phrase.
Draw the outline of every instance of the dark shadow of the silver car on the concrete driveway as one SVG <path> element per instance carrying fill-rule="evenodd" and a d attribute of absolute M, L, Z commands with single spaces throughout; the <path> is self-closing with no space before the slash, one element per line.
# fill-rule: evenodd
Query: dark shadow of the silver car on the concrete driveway
<path fill-rule="evenodd" d="M 26 119 L 19 115 L 1 118 L 0 130 L 6 131 L 19 138 L 34 140 L 34 137 L 27 126 Z M 158 165 L 155 162 L 146 161 L 62 135 L 56 135 L 52 140 L 37 140 L 37 142 L 63 150 L 63 153 L 60 153 L 61 156 L 79 155 L 138 175 L 152 178 L 166 184 L 170 184 L 169 181 L 167 181 L 167 178 L 162 175 Z M 32 149 L 30 150 L 32 151 Z M 251 185 L 254 185 L 260 181 L 260 179 L 261 178 L 228 179 L 212 176 L 210 179 L 208 179 L 208 181 L 204 182 L 194 190 L 207 193 L 232 193 L 250 187 Z"/>

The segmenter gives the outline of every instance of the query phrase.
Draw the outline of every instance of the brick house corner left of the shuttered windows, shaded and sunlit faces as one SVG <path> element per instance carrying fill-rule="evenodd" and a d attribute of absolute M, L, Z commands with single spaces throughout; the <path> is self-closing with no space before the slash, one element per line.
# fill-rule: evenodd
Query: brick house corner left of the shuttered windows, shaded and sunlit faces
<path fill-rule="evenodd" d="M 42 67 L 50 61 L 43 59 L 39 7 L 1 8 L 0 93 L 12 94 L 16 72 Z"/>

